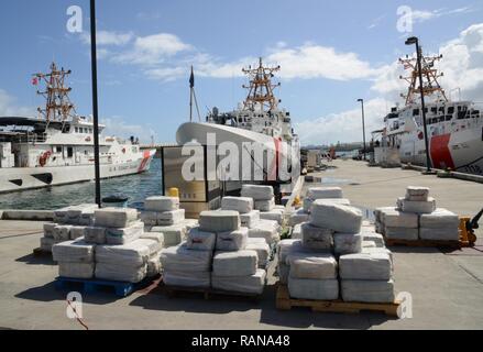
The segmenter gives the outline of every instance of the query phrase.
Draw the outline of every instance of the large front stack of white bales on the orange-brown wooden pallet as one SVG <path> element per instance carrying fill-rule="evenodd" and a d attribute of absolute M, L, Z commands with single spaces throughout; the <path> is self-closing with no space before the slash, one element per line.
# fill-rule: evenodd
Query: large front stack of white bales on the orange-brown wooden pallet
<path fill-rule="evenodd" d="M 312 202 L 310 221 L 301 224 L 303 240 L 278 246 L 278 274 L 292 297 L 333 300 L 340 287 L 347 301 L 394 300 L 391 252 L 381 235 L 361 224 L 359 209 L 323 199 Z"/>

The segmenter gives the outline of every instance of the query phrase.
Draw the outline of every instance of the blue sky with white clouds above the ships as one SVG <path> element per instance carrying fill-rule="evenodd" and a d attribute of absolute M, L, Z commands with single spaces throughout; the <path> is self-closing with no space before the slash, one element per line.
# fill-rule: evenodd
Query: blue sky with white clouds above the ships
<path fill-rule="evenodd" d="M 73 13 L 81 9 L 80 32 Z M 410 10 L 410 12 L 409 12 Z M 69 22 L 70 21 L 70 22 Z M 70 98 L 91 114 L 89 1 L 9 0 L 0 4 L 0 116 L 35 114 L 44 105 L 32 74 L 52 61 L 72 69 Z M 72 28 L 70 28 L 72 29 Z M 257 57 L 281 65 L 276 96 L 301 143 L 367 138 L 406 89 L 397 59 L 420 38 L 442 54 L 441 85 L 483 101 L 483 3 L 477 0 L 102 0 L 97 1 L 99 116 L 106 133 L 174 142 L 189 119 L 189 67 L 204 118 L 246 95 L 241 69 Z"/>

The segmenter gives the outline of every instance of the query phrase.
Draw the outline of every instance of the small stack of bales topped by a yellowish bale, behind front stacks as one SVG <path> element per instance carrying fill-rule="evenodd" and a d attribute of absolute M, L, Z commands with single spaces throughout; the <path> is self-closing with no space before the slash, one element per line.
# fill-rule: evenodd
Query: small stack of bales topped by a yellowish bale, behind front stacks
<path fill-rule="evenodd" d="M 151 232 L 164 234 L 164 245 L 178 245 L 188 231 L 185 210 L 179 209 L 177 197 L 150 197 L 144 202 L 144 212 L 141 220 L 150 228 Z"/>

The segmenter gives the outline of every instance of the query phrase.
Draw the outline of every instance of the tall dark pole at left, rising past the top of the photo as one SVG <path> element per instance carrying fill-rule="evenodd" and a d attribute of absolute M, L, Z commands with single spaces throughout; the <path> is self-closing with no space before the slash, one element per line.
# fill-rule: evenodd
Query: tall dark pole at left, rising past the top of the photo
<path fill-rule="evenodd" d="M 90 58 L 92 69 L 92 122 L 94 122 L 94 164 L 96 176 L 96 204 L 101 208 L 100 158 L 99 158 L 99 111 L 97 100 L 97 50 L 96 50 L 96 0 L 90 0 Z"/>

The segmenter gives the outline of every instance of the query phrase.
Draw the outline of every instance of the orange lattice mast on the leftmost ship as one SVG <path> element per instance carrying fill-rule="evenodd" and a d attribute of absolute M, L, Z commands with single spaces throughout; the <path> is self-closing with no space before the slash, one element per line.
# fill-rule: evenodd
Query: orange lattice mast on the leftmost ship
<path fill-rule="evenodd" d="M 59 70 L 55 63 L 52 63 L 50 74 L 33 75 L 36 84 L 43 81 L 46 86 L 45 91 L 37 90 L 37 95 L 46 100 L 45 108 L 39 108 L 37 111 L 47 122 L 65 122 L 73 117 L 73 112 L 75 113 L 75 107 L 68 97 L 72 88 L 65 87 L 65 79 L 70 73 L 72 70 L 64 70 L 64 67 Z"/>

